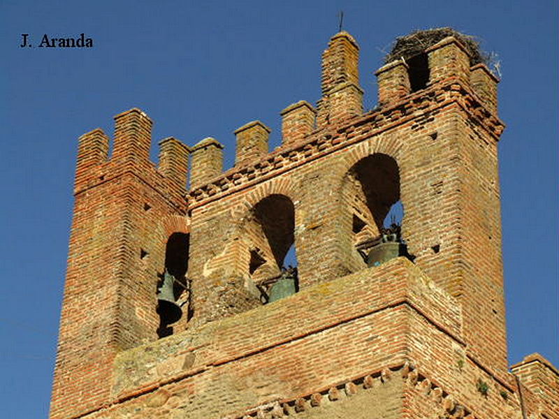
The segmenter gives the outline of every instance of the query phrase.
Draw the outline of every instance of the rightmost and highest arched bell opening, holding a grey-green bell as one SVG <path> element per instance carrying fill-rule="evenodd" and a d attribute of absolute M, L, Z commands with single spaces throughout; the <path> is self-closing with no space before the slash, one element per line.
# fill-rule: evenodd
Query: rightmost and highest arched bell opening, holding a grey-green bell
<path fill-rule="evenodd" d="M 344 196 L 351 211 L 352 244 L 365 265 L 409 256 L 401 235 L 400 171 L 391 156 L 372 154 L 354 164 Z"/>

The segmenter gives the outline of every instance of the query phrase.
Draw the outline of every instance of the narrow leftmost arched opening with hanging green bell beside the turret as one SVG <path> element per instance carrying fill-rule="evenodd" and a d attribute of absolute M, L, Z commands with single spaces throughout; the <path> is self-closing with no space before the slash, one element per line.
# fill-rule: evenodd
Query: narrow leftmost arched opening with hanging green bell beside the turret
<path fill-rule="evenodd" d="M 164 272 L 157 283 L 157 335 L 173 335 L 173 323 L 187 316 L 191 318 L 190 284 L 187 277 L 190 235 L 173 233 L 165 248 Z"/>

